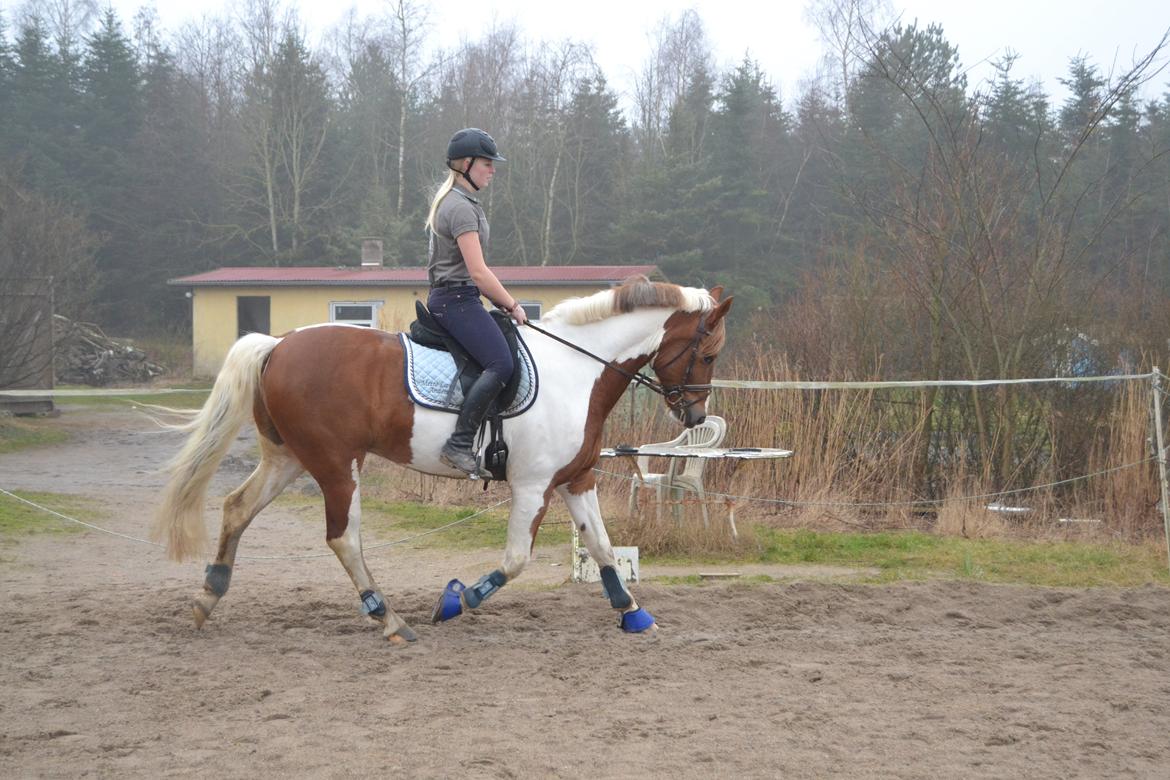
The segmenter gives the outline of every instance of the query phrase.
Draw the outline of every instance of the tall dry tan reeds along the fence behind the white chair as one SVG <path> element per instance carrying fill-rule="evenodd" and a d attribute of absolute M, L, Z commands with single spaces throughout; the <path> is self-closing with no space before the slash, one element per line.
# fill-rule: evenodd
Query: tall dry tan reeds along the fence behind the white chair
<path fill-rule="evenodd" d="M 718 375 L 799 380 L 783 360 L 759 353 L 721 365 Z M 1080 387 L 1062 387 L 1078 393 Z M 652 493 L 633 516 L 627 511 L 632 463 L 604 460 L 598 476 L 603 510 L 615 544 L 645 554 L 735 555 L 755 548 L 752 526 L 819 531 L 917 530 L 968 539 L 1031 538 L 1148 540 L 1163 531 L 1157 511 L 1156 464 L 1129 465 L 1065 485 L 996 493 L 1108 471 L 1149 457 L 1150 388 L 1119 384 L 1093 396 L 1107 408 L 1093 426 L 1054 424 L 1042 447 L 1021 447 L 1011 478 L 997 479 L 977 448 L 940 442 L 964 441 L 962 421 L 948 412 L 948 396 L 928 408 L 918 391 L 716 391 L 708 410 L 729 421 L 725 447 L 779 447 L 794 456 L 778 461 L 718 461 L 708 464 L 709 491 L 738 496 L 739 540 L 728 532 L 727 506 L 710 506 L 703 527 L 693 501 L 655 519 Z M 950 396 L 954 398 L 954 396 Z M 1031 398 L 1031 396 L 1030 396 Z M 1033 403 L 1049 403 L 1041 398 Z M 1007 408 L 1014 408 L 1009 406 Z M 1031 408 L 1040 414 L 1045 407 Z M 934 415 L 934 439 L 922 421 Z M 947 426 L 943 440 L 938 429 Z M 1083 428 L 1083 429 L 1082 429 Z M 956 429 L 958 429 L 956 432 Z M 662 400 L 645 389 L 626 394 L 607 422 L 605 443 L 666 441 L 680 433 Z M 950 446 L 950 444 L 948 444 Z M 655 470 L 662 463 L 652 462 Z M 1017 475 L 1026 475 L 1019 477 Z M 481 506 L 507 496 L 475 483 L 394 471 L 373 458 L 366 486 L 386 501 Z M 555 502 L 549 522 L 564 522 Z M 1028 511 L 991 511 L 1003 504 Z"/>

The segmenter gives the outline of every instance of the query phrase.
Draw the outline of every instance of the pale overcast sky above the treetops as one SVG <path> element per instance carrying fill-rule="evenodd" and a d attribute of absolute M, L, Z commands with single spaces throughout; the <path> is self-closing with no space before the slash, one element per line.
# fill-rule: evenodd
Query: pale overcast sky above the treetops
<path fill-rule="evenodd" d="M 384 0 L 290 0 L 300 8 L 310 41 L 335 25 L 350 7 L 359 16 L 385 7 Z M 103 0 L 104 2 L 104 0 Z M 1165 0 L 892 0 L 903 21 L 942 25 L 970 69 L 970 83 L 990 77 L 989 62 L 1006 49 L 1019 55 L 1018 77 L 1038 78 L 1059 99 L 1058 78 L 1069 57 L 1087 54 L 1102 71 L 1123 70 L 1135 56 L 1149 51 L 1170 28 Z M 164 28 L 173 30 L 201 15 L 220 15 L 239 4 L 225 0 L 112 0 L 129 29 L 135 11 L 154 5 Z M 0 0 L 12 19 L 18 0 Z M 447 0 L 432 4 L 432 40 L 452 44 L 476 39 L 493 20 L 515 21 L 530 40 L 571 37 L 593 46 L 597 61 L 612 85 L 628 92 L 633 74 L 644 63 L 649 36 L 667 15 L 691 7 L 702 18 L 717 64 L 739 62 L 744 54 L 759 62 L 785 102 L 817 68 L 821 44 L 817 30 L 804 21 L 805 0 L 590 0 L 558 4 L 550 0 Z M 1163 73 L 1147 97 L 1168 90 Z"/>

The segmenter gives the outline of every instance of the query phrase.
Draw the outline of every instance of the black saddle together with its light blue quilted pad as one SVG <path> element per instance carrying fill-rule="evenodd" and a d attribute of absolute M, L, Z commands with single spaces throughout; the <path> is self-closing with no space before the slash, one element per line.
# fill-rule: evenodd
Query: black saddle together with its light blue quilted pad
<path fill-rule="evenodd" d="M 483 367 L 435 322 L 421 301 L 414 302 L 414 313 L 418 319 L 411 323 L 410 337 L 400 334 L 406 356 L 407 393 L 419 406 L 459 413 L 464 394 Z M 515 417 L 526 412 L 536 400 L 536 364 L 519 337 L 516 323 L 502 311 L 489 313 L 515 357 L 516 370 L 496 398 L 488 417 Z"/>

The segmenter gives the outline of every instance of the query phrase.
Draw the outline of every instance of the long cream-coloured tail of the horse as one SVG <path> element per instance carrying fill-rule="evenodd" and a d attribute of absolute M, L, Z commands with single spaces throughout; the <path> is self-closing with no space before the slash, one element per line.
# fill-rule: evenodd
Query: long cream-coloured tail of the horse
<path fill-rule="evenodd" d="M 198 557 L 207 544 L 204 501 L 228 447 L 252 412 L 264 361 L 280 339 L 263 333 L 245 336 L 227 353 L 204 408 L 187 423 L 186 444 L 166 464 L 171 478 L 154 513 L 151 538 L 166 546 L 173 560 Z"/>

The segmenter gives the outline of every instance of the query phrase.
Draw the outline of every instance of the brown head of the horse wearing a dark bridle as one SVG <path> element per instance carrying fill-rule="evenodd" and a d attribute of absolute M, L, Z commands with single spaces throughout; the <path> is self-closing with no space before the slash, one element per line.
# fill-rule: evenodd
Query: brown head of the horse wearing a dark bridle
<path fill-rule="evenodd" d="M 673 313 L 651 364 L 662 384 L 667 407 L 688 428 L 707 419 L 715 358 L 727 340 L 723 317 L 731 309 L 731 297 L 721 301 L 722 295 L 723 288 L 715 287 L 711 309 Z"/>

